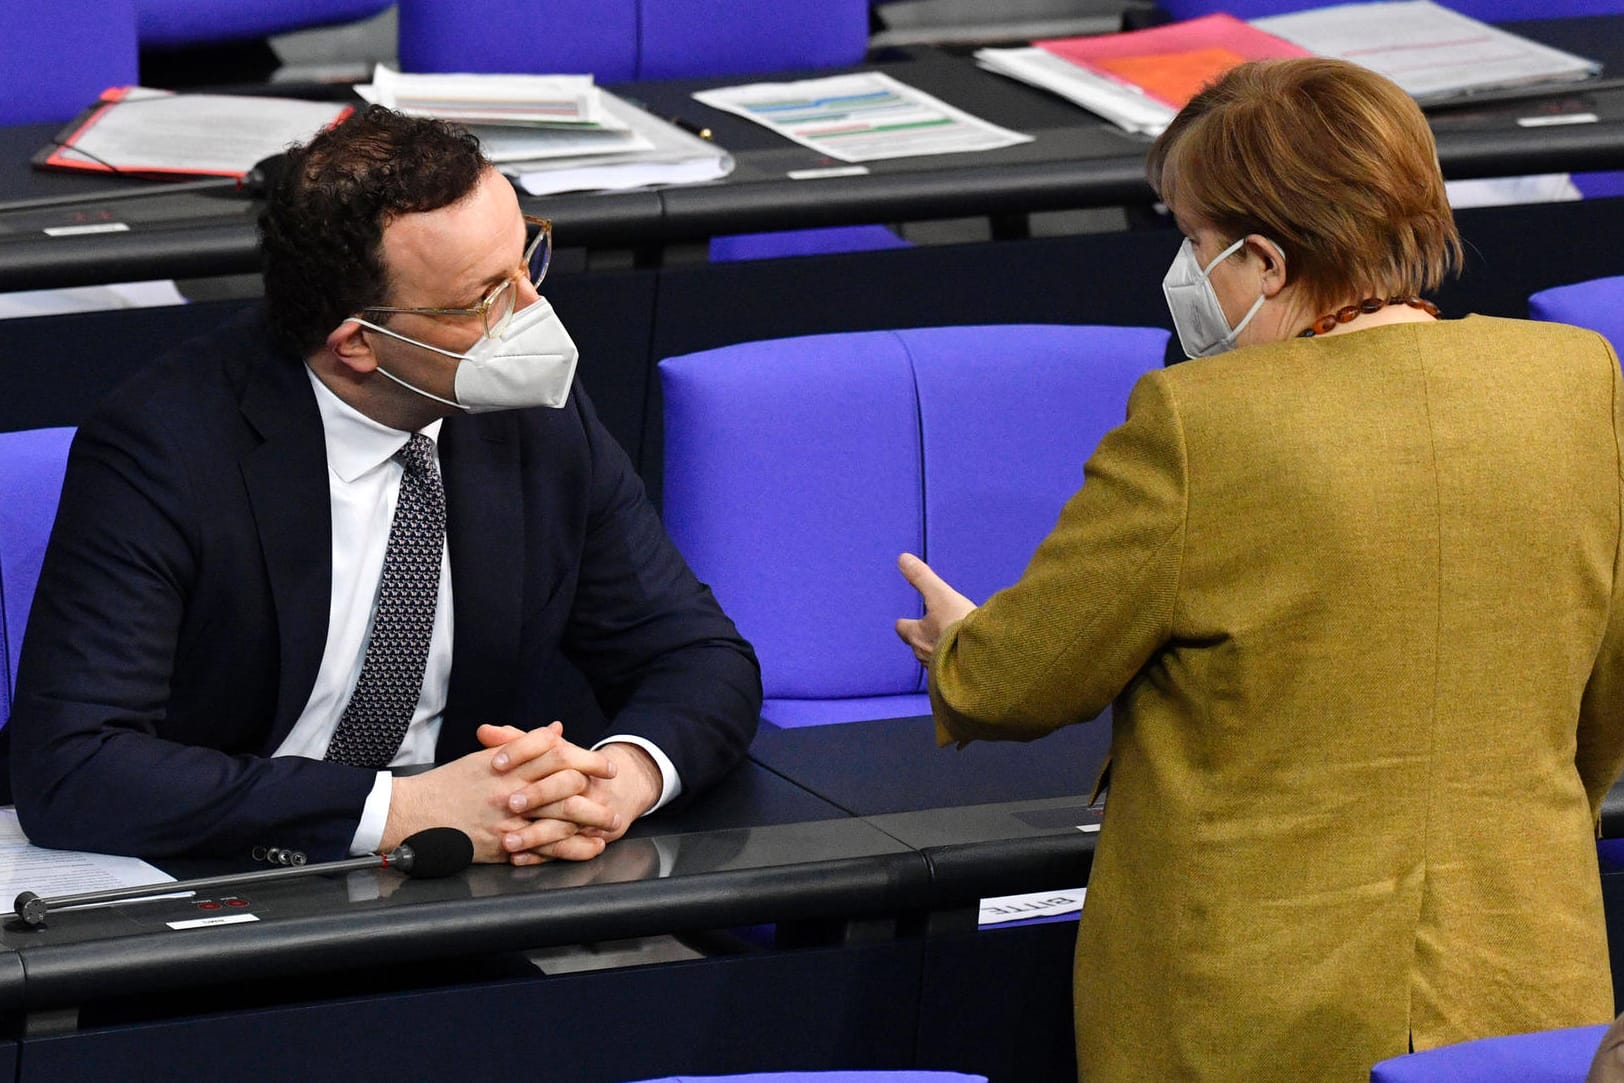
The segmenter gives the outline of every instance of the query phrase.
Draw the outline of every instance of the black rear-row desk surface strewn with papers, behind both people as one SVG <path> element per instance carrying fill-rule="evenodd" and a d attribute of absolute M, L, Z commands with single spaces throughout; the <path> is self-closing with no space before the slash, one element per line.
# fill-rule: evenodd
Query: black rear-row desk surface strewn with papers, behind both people
<path fill-rule="evenodd" d="M 1530 37 L 1598 58 L 1624 75 L 1624 16 L 1518 23 Z M 789 180 L 791 169 L 833 166 L 815 151 L 692 101 L 705 86 L 741 80 L 638 83 L 617 88 L 653 110 L 703 122 L 732 151 L 732 177 L 708 185 L 526 200 L 559 224 L 560 245 L 658 248 L 716 234 L 801 229 L 1150 201 L 1148 140 L 1013 80 L 981 71 L 965 55 L 932 49 L 879 63 L 901 81 L 986 120 L 1036 138 L 981 154 L 869 162 L 866 175 Z M 784 78 L 807 73 L 786 73 Z M 1551 110 L 1593 112 L 1595 123 L 1518 127 Z M 1439 157 L 1450 177 L 1624 167 L 1624 88 L 1575 89 L 1540 102 L 1499 102 L 1434 114 Z M 0 196 L 6 200 L 112 192 L 127 182 L 42 174 L 29 156 L 54 125 L 0 128 Z M 141 185 L 148 187 L 148 185 Z M 143 278 L 200 278 L 257 270 L 253 208 L 224 193 L 174 193 L 76 209 L 0 211 L 0 289 L 36 289 Z M 127 232 L 45 237 L 47 224 L 122 221 Z"/>

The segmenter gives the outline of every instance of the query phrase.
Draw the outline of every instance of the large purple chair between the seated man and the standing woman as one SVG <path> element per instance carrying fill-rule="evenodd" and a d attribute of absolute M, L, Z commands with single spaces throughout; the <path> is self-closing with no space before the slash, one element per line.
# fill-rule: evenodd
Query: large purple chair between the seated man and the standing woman
<path fill-rule="evenodd" d="M 1013 583 L 1168 333 L 950 326 L 671 357 L 664 516 L 762 659 L 763 718 L 929 713 L 896 640 L 916 552 L 976 601 Z"/>

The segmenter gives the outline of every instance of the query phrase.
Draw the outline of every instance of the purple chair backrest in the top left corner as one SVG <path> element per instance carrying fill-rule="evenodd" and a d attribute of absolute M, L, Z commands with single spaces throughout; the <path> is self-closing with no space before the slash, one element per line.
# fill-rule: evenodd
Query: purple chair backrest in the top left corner
<path fill-rule="evenodd" d="M 133 0 L 0 3 L 0 123 L 71 120 L 135 81 Z"/>

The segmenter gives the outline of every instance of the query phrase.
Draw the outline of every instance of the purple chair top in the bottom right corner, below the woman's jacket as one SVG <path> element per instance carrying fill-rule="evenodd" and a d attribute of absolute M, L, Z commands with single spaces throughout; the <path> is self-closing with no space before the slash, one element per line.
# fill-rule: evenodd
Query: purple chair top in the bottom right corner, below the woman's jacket
<path fill-rule="evenodd" d="M 1608 1025 L 1483 1038 L 1382 1060 L 1371 1083 L 1585 1083 Z"/>

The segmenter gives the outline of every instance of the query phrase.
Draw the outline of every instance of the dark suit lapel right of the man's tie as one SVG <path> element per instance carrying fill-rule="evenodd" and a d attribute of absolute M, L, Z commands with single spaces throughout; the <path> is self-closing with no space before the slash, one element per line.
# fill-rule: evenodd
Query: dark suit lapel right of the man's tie
<path fill-rule="evenodd" d="M 438 752 L 443 762 L 477 747 L 468 723 L 512 721 L 505 713 L 512 710 L 508 685 L 518 658 L 526 565 L 513 414 L 447 417 L 440 469 L 455 612 L 451 687 Z"/>

